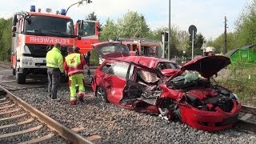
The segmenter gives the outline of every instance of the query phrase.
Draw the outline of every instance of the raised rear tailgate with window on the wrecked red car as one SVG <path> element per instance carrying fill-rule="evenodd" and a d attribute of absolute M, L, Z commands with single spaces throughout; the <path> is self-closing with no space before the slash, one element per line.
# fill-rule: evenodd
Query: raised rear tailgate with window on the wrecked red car
<path fill-rule="evenodd" d="M 130 56 L 129 48 L 120 42 L 99 42 L 93 45 L 101 58 L 119 58 Z"/>

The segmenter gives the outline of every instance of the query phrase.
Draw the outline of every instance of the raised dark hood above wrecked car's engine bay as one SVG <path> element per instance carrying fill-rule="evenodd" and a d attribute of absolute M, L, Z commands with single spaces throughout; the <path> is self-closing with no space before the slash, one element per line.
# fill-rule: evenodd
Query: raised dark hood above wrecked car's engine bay
<path fill-rule="evenodd" d="M 221 55 L 195 58 L 182 66 L 181 70 L 177 74 L 174 74 L 172 78 L 182 74 L 185 70 L 195 70 L 198 71 L 202 77 L 210 78 L 230 63 L 230 58 Z"/>

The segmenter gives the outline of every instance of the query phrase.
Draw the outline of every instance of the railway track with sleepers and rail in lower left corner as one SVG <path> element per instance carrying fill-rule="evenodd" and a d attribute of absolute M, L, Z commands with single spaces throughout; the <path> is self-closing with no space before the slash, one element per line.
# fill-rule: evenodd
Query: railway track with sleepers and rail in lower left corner
<path fill-rule="evenodd" d="M 2 143 L 93 143 L 100 138 L 76 134 L 0 86 L 0 142 Z"/>

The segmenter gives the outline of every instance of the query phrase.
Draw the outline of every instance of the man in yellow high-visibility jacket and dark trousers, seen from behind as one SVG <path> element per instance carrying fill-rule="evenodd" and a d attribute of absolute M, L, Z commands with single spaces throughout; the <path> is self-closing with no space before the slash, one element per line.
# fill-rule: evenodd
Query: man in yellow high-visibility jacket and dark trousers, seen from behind
<path fill-rule="evenodd" d="M 61 44 L 56 43 L 54 48 L 46 54 L 46 66 L 48 74 L 48 95 L 51 99 L 59 101 L 57 98 L 58 83 L 61 73 L 64 72 Z"/>

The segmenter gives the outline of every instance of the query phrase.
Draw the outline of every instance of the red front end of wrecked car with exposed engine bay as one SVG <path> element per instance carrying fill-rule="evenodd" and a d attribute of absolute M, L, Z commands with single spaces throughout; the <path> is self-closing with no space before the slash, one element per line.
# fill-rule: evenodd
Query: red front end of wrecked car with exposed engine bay
<path fill-rule="evenodd" d="M 203 97 L 198 97 L 200 93 Z M 234 126 L 241 107 L 238 98 L 220 86 L 194 90 L 194 93 L 188 91 L 179 104 L 182 122 L 207 131 L 225 130 Z"/>

